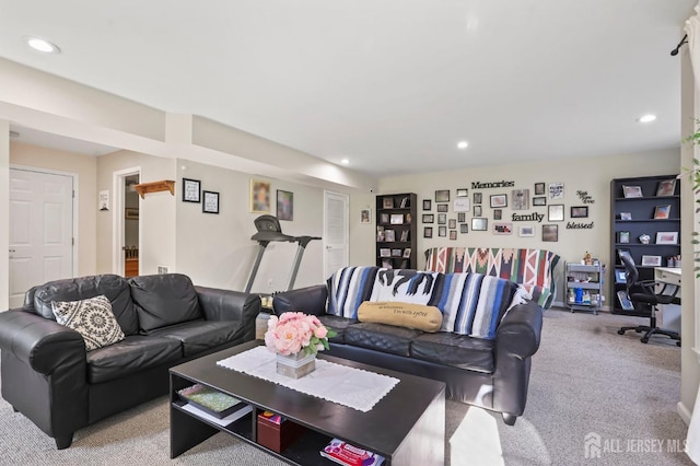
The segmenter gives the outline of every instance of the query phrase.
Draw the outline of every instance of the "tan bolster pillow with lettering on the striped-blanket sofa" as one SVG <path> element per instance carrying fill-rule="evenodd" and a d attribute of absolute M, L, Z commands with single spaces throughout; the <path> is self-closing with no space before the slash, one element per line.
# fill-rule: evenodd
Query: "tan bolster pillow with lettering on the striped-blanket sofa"
<path fill-rule="evenodd" d="M 435 306 L 400 302 L 365 301 L 358 310 L 360 322 L 396 325 L 434 333 L 442 326 L 442 313 Z"/>

